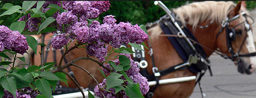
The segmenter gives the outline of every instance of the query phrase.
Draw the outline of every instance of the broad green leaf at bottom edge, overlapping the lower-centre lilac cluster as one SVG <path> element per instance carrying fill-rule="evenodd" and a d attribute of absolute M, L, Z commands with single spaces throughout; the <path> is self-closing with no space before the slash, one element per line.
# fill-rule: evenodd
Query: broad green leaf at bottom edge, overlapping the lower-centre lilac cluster
<path fill-rule="evenodd" d="M 125 93 L 129 98 L 144 98 L 138 83 L 129 83 L 125 88 Z"/>

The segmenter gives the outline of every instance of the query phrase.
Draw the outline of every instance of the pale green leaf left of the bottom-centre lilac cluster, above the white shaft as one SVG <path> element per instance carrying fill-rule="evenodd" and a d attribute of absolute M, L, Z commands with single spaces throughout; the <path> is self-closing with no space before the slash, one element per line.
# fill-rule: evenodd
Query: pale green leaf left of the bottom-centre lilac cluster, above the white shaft
<path fill-rule="evenodd" d="M 114 72 L 110 73 L 110 76 L 107 77 L 107 90 L 124 83 L 124 80 L 118 79 L 121 76 L 123 75 L 119 73 L 114 73 Z"/>

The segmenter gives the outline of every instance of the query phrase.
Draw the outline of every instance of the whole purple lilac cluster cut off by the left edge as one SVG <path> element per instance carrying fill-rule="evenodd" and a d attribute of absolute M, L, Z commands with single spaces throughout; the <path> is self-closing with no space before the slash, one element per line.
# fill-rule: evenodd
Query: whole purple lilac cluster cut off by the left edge
<path fill-rule="evenodd" d="M 12 51 L 24 54 L 29 49 L 26 37 L 18 31 L 11 31 L 6 26 L 0 26 L 0 52 L 3 49 L 12 49 Z"/>

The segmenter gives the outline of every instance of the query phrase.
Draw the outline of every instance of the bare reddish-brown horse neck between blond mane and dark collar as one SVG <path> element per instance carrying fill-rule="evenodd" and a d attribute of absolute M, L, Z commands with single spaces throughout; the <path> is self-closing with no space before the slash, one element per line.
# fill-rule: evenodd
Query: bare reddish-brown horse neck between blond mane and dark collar
<path fill-rule="evenodd" d="M 209 22 L 203 22 L 198 25 L 207 25 L 208 23 Z M 217 33 L 220 31 L 220 26 L 214 22 L 213 24 L 210 24 L 207 28 L 195 28 L 193 30 L 192 25 L 187 25 L 187 27 L 190 29 L 192 34 L 194 34 L 195 38 L 201 45 L 211 49 L 209 50 L 203 47 L 207 57 L 209 57 L 213 53 L 213 51 L 217 49 L 216 37 Z"/>

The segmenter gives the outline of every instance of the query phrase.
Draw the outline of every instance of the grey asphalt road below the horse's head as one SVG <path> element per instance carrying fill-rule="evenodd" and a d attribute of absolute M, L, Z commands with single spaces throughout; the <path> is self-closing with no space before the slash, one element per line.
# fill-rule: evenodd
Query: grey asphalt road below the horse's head
<path fill-rule="evenodd" d="M 241 74 L 231 60 L 220 55 L 209 59 L 213 76 L 207 70 L 201 79 L 204 98 L 256 98 L 256 73 Z M 190 98 L 202 98 L 198 84 Z"/>

